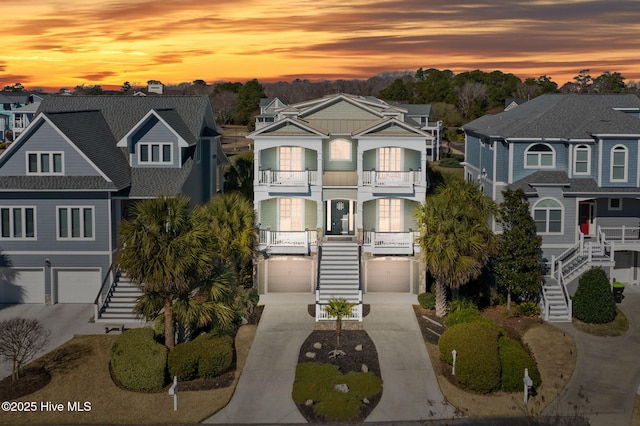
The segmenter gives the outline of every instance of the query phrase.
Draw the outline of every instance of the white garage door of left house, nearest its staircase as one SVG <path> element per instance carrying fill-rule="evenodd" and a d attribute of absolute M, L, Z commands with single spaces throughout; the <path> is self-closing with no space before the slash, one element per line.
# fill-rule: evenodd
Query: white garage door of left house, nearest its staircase
<path fill-rule="evenodd" d="M 102 284 L 100 269 L 56 269 L 58 303 L 93 303 Z"/>

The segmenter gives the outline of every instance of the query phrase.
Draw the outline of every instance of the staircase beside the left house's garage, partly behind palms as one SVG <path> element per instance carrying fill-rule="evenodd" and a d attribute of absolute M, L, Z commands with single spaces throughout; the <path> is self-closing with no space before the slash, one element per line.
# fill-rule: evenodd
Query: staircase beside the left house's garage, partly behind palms
<path fill-rule="evenodd" d="M 119 272 L 109 290 L 106 301 L 98 313 L 101 322 L 137 322 L 133 307 L 142 291 L 131 282 L 124 272 Z"/>

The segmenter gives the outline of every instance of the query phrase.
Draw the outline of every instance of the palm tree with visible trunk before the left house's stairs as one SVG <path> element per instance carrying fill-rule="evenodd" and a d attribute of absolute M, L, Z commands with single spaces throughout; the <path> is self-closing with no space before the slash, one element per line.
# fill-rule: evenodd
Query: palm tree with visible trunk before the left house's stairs
<path fill-rule="evenodd" d="M 174 303 L 211 268 L 206 224 L 197 216 L 190 214 L 187 197 L 161 196 L 136 203 L 120 230 L 118 266 L 144 292 L 148 311 L 162 301 L 169 349 L 175 346 Z"/>

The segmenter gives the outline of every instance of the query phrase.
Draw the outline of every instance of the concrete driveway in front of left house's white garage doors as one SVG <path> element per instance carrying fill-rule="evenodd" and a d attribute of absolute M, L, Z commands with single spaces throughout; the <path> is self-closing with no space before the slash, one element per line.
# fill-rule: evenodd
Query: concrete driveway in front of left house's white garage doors
<path fill-rule="evenodd" d="M 57 348 L 76 334 L 104 333 L 104 325 L 90 323 L 93 317 L 92 304 L 59 303 L 52 306 L 41 304 L 0 305 L 0 321 L 15 318 L 35 318 L 51 331 L 49 344 L 38 352 L 38 358 Z M 11 363 L 0 359 L 0 378 L 11 375 Z"/>

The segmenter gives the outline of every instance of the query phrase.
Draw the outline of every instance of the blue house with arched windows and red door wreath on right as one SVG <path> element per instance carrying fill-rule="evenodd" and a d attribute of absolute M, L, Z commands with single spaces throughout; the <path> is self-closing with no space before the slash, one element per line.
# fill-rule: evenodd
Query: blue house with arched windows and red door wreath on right
<path fill-rule="evenodd" d="M 591 266 L 640 284 L 640 98 L 543 95 L 464 130 L 466 178 L 497 202 L 505 188 L 529 197 L 545 317 L 570 319 L 569 296 Z"/>

